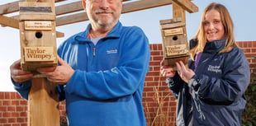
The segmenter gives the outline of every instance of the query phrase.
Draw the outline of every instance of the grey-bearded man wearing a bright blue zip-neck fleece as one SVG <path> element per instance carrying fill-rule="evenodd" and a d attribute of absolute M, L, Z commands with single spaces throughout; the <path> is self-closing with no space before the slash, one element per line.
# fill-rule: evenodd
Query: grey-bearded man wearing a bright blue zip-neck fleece
<path fill-rule="evenodd" d="M 149 70 L 149 41 L 136 26 L 122 26 L 121 0 L 83 0 L 88 28 L 59 45 L 56 68 L 38 68 L 58 83 L 69 126 L 146 126 L 142 106 Z M 27 99 L 32 72 L 10 67 L 12 82 Z"/>

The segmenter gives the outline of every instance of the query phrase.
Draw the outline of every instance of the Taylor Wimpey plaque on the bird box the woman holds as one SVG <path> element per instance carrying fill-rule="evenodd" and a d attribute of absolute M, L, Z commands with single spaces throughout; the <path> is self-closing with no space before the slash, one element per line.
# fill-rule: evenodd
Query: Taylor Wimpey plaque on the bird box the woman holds
<path fill-rule="evenodd" d="M 181 54 L 187 54 L 187 45 L 186 44 L 177 44 L 173 46 L 166 46 L 166 54 L 167 56 L 175 56 Z"/>

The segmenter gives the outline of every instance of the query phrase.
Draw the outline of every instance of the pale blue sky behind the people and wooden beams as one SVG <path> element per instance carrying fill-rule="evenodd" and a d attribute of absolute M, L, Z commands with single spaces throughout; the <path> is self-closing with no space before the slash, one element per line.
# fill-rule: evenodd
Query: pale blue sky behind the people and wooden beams
<path fill-rule="evenodd" d="M 17 0 L 0 1 L 0 5 L 14 1 Z M 254 31 L 256 30 L 255 0 L 192 0 L 192 2 L 197 5 L 198 12 L 186 12 L 187 40 L 192 39 L 195 35 L 204 8 L 211 2 L 219 2 L 227 7 L 234 21 L 235 40 L 256 41 Z M 162 44 L 159 21 L 172 19 L 172 11 L 172 5 L 155 7 L 144 11 L 122 14 L 120 21 L 123 26 L 139 26 L 142 28 L 145 35 L 148 36 L 150 44 Z M 63 38 L 57 38 L 57 45 L 69 36 L 85 30 L 88 23 L 88 21 L 83 21 L 56 27 L 56 30 L 63 32 L 65 35 Z M 9 68 L 13 62 L 21 58 L 19 39 L 19 30 L 0 26 L 0 41 L 2 44 L 0 46 L 0 91 L 15 91 L 12 86 Z"/>

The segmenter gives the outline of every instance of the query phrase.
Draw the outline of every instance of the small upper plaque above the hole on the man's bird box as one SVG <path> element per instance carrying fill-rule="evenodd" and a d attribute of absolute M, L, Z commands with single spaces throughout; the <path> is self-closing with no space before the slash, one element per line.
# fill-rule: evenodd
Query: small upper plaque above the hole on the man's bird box
<path fill-rule="evenodd" d="M 51 21 L 25 21 L 25 30 L 52 30 Z"/>

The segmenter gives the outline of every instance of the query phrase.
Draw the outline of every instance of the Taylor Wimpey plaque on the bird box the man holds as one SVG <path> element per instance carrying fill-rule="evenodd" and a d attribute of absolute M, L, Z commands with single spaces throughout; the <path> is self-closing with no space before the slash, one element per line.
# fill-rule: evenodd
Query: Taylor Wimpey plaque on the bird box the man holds
<path fill-rule="evenodd" d="M 24 57 L 26 62 L 54 61 L 53 47 L 24 47 Z"/>

